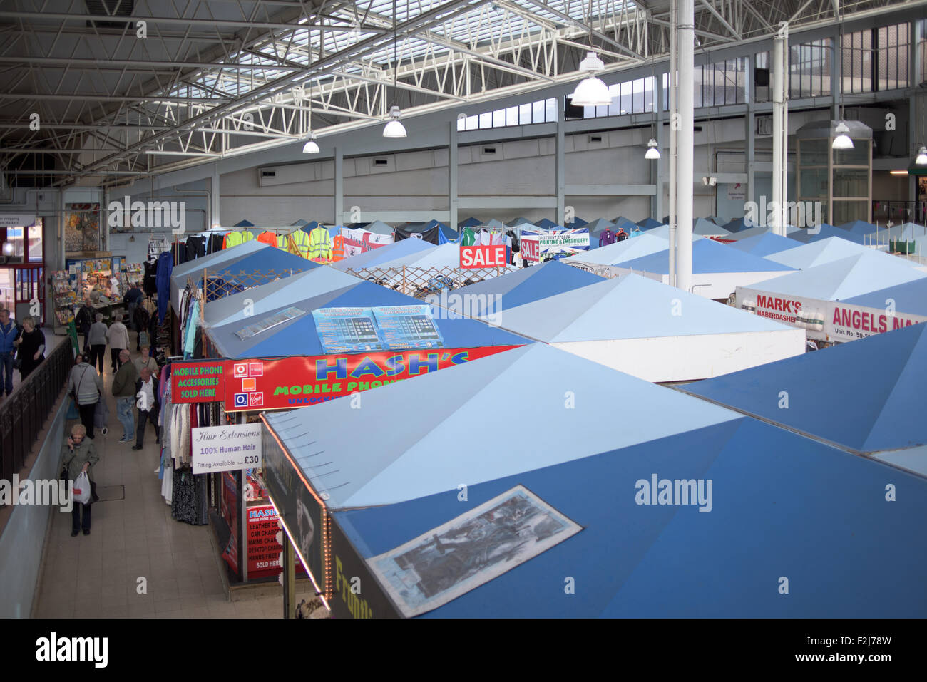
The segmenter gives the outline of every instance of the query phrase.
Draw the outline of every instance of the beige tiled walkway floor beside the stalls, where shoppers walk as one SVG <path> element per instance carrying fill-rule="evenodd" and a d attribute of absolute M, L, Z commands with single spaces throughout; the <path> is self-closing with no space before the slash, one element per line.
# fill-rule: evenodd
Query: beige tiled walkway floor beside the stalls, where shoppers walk
<path fill-rule="evenodd" d="M 133 339 L 134 343 L 134 339 Z M 171 519 L 155 469 L 159 446 L 147 427 L 145 447 L 120 443 L 122 427 L 109 394 L 109 434 L 95 437 L 97 487 L 125 486 L 125 499 L 93 505 L 89 536 L 70 537 L 70 513 L 53 512 L 33 615 L 61 617 L 279 618 L 280 597 L 231 602 L 210 526 Z M 66 428 L 70 429 L 69 422 Z M 144 580 L 143 580 L 144 578 Z M 144 589 L 143 589 L 144 587 Z"/>

